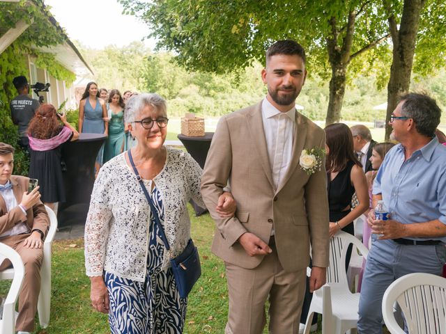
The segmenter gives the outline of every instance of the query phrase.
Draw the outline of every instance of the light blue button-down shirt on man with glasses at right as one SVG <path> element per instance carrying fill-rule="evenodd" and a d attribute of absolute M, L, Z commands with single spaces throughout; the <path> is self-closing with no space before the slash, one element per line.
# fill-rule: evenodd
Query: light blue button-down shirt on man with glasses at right
<path fill-rule="evenodd" d="M 446 146 L 434 137 L 404 161 L 404 147 L 395 145 L 385 156 L 374 181 L 391 218 L 403 224 L 439 219 L 446 224 Z M 411 238 L 414 240 L 446 237 Z"/>

